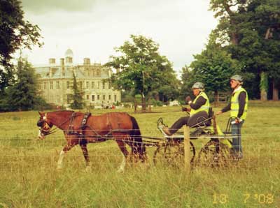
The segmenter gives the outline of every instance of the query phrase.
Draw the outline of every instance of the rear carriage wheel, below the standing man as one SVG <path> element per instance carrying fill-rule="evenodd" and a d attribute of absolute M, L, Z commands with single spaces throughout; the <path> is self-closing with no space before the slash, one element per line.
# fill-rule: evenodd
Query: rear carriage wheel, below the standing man
<path fill-rule="evenodd" d="M 211 167 L 224 167 L 230 161 L 230 148 L 215 140 L 210 140 L 202 147 L 198 154 L 197 165 L 205 165 Z"/>

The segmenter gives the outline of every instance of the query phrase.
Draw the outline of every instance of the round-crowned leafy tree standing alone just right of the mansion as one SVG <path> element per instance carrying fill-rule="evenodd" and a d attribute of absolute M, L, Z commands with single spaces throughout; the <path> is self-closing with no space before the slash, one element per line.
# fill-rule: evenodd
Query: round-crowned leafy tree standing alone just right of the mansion
<path fill-rule="evenodd" d="M 159 45 L 151 38 L 131 35 L 132 41 L 117 47 L 120 55 L 111 56 L 106 66 L 116 68 L 111 77 L 113 87 L 141 94 L 142 110 L 146 110 L 149 92 L 162 85 L 174 84 L 176 76 L 172 64 L 158 52 Z M 176 84 L 174 84 L 176 86 Z"/>

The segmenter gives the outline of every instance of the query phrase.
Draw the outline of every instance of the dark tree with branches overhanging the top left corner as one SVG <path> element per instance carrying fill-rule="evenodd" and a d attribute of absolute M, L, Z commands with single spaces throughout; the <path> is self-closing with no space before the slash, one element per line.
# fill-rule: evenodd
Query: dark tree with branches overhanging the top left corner
<path fill-rule="evenodd" d="M 20 47 L 31 49 L 39 45 L 41 35 L 37 25 L 24 20 L 19 0 L 0 0 L 0 94 L 13 82 L 13 64 L 10 60 Z"/>

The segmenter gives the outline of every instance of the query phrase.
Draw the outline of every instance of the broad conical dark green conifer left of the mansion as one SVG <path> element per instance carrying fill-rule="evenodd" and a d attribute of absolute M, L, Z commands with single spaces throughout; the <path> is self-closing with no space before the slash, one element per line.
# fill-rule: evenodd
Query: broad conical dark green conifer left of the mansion
<path fill-rule="evenodd" d="M 6 96 L 2 100 L 2 104 L 7 104 L 3 110 L 34 109 L 38 103 L 42 103 L 38 96 L 38 80 L 34 68 L 27 59 L 20 59 L 15 75 L 13 85 L 6 89 Z"/>

